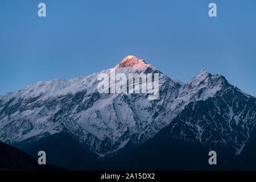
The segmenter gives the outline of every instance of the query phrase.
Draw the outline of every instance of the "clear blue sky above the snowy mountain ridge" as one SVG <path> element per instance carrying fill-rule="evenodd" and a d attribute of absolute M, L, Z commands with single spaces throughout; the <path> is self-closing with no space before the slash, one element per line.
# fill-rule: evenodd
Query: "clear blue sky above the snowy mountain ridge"
<path fill-rule="evenodd" d="M 256 1 L 0 1 L 0 94 L 113 68 L 127 55 L 183 82 L 201 69 L 221 74 L 256 96 Z"/>

